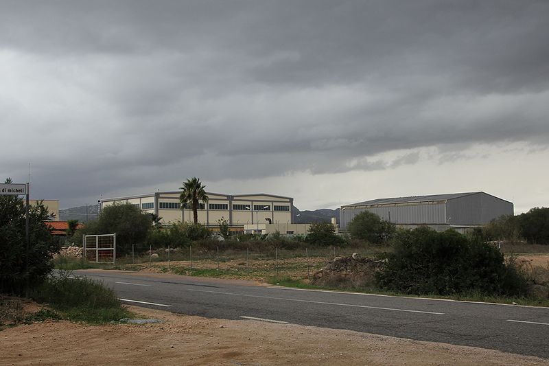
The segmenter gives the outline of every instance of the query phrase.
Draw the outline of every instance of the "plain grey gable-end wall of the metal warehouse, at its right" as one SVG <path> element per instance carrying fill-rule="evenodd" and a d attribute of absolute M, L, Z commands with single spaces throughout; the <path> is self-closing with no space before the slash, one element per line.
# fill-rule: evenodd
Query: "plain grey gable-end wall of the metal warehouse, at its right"
<path fill-rule="evenodd" d="M 447 214 L 452 225 L 482 225 L 493 218 L 512 215 L 513 203 L 479 192 L 448 200 Z"/>

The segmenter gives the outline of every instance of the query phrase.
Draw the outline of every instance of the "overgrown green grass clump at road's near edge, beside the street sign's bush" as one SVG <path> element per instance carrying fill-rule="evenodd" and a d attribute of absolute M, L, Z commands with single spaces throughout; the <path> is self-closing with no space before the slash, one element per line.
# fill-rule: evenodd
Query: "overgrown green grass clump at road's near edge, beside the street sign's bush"
<path fill-rule="evenodd" d="M 48 304 L 63 319 L 71 321 L 107 323 L 134 317 L 113 290 L 93 279 L 71 278 L 69 272 L 50 276 L 33 291 L 32 298 Z"/>

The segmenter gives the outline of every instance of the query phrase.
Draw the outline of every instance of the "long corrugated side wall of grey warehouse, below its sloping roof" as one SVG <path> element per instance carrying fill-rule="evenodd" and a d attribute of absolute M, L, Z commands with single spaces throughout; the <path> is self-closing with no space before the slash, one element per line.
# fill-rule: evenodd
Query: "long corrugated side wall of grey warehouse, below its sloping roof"
<path fill-rule="evenodd" d="M 442 201 L 430 204 L 375 205 L 344 207 L 340 212 L 340 227 L 347 225 L 362 211 L 370 211 L 395 224 L 444 224 L 446 207 Z"/>

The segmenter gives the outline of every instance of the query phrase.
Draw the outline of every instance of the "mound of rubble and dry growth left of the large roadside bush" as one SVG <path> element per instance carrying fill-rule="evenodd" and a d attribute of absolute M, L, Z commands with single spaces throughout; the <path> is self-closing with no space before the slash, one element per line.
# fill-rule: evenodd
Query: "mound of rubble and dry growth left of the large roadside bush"
<path fill-rule="evenodd" d="M 325 268 L 313 275 L 312 284 L 337 288 L 366 288 L 375 284 L 375 273 L 385 266 L 384 260 L 362 258 L 358 253 L 351 257 L 336 257 Z"/>

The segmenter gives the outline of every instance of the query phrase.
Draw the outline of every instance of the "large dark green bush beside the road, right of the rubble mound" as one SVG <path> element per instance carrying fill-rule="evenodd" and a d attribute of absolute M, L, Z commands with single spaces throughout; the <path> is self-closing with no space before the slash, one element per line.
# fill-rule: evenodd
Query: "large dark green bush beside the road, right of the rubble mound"
<path fill-rule="evenodd" d="M 518 277 L 517 277 L 518 276 Z M 413 294 L 452 295 L 480 292 L 522 295 L 526 280 L 490 244 L 453 230 L 428 227 L 399 231 L 387 266 L 378 273 L 382 288 Z"/>

